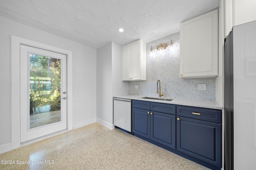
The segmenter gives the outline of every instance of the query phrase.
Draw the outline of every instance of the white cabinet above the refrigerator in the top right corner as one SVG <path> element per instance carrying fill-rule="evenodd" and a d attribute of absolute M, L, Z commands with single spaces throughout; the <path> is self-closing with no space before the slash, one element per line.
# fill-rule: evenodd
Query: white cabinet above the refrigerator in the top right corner
<path fill-rule="evenodd" d="M 225 37 L 233 26 L 256 20 L 256 0 L 225 0 Z"/>

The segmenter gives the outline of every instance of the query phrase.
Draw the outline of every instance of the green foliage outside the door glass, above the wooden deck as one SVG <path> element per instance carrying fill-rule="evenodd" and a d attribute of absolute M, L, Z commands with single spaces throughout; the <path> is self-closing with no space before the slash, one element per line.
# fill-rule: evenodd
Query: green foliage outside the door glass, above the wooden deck
<path fill-rule="evenodd" d="M 60 62 L 30 54 L 30 115 L 44 105 L 50 105 L 50 111 L 60 110 Z"/>

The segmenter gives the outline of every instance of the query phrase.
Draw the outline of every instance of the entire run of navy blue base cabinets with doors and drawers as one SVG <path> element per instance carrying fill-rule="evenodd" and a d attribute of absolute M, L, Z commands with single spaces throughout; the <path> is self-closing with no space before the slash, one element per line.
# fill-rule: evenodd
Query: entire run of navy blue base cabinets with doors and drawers
<path fill-rule="evenodd" d="M 133 100 L 135 136 L 212 170 L 222 167 L 221 123 L 218 109 Z"/>

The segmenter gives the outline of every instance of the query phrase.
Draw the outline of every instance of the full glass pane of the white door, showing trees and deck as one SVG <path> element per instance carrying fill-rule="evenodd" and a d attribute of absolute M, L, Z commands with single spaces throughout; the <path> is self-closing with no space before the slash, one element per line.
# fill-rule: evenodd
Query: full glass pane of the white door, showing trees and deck
<path fill-rule="evenodd" d="M 30 129 L 61 121 L 61 60 L 30 54 Z"/>

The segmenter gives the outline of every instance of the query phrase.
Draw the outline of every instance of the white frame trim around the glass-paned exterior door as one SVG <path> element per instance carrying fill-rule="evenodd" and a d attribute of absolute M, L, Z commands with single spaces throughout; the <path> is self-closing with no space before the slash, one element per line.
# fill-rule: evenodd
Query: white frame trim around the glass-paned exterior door
<path fill-rule="evenodd" d="M 11 35 L 11 149 L 20 143 L 20 44 L 67 55 L 67 131 L 72 130 L 72 51 Z"/>

